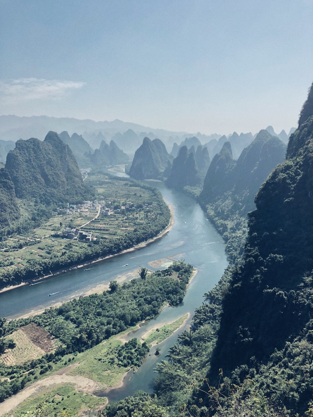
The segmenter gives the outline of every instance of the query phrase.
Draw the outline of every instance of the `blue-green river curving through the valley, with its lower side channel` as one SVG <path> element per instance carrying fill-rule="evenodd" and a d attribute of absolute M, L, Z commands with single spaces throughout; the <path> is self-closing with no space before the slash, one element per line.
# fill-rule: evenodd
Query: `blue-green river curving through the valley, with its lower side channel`
<path fill-rule="evenodd" d="M 151 261 L 162 259 L 159 264 L 164 265 L 170 258 L 184 259 L 198 270 L 189 284 L 183 303 L 164 308 L 157 317 L 144 323 L 138 331 L 132 332 L 129 339 L 140 337 L 150 328 L 173 322 L 186 313 L 190 313 L 190 319 L 185 326 L 188 328 L 194 310 L 202 304 L 204 293 L 213 288 L 227 267 L 224 242 L 205 218 L 199 204 L 191 197 L 171 190 L 158 181 L 149 181 L 149 185 L 159 188 L 165 201 L 172 204 L 175 219 L 172 230 L 144 248 L 86 266 L 90 268 L 88 270 L 74 269 L 39 281 L 33 286 L 22 286 L 0 293 L 0 317 L 14 319 L 30 311 L 85 295 L 96 286 L 108 284 L 119 276 L 134 276 L 134 271 L 138 271 L 140 266 L 156 270 L 157 265 L 151 266 Z M 155 347 L 152 348 L 150 356 L 138 371 L 135 374 L 129 372 L 122 388 L 105 393 L 109 400 L 132 395 L 138 389 L 152 392 L 156 377 L 153 368 L 157 362 L 165 359 L 169 347 L 176 342 L 178 333 L 183 330 L 180 329 L 158 345 L 161 350 L 159 356 L 154 354 Z"/>

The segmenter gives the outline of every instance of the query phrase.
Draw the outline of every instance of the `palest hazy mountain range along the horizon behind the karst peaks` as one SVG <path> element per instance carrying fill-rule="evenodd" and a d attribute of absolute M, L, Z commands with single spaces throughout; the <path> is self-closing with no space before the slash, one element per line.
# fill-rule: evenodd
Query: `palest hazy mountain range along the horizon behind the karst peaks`
<path fill-rule="evenodd" d="M 295 131 L 295 128 L 292 128 L 289 134 L 287 134 L 284 130 L 277 134 L 274 132 L 272 126 L 268 126 L 266 130 L 271 135 L 277 136 L 278 138 L 280 138 L 280 140 L 287 143 L 288 137 L 291 133 Z M 123 151 L 128 153 L 130 156 L 134 155 L 134 152 L 141 145 L 142 140 L 145 137 L 148 137 L 151 140 L 155 138 L 162 140 L 164 145 L 167 147 L 168 151 L 172 149 L 173 144 L 175 142 L 181 143 L 186 138 L 196 137 L 202 145 L 207 146 L 211 158 L 215 155 L 215 153 L 220 152 L 223 144 L 227 140 L 231 142 L 232 150 L 234 153 L 233 156 L 234 158 L 236 158 L 240 155 L 242 149 L 245 148 L 245 146 L 249 145 L 249 143 L 251 143 L 256 136 L 252 135 L 252 133 L 241 133 L 240 135 L 238 135 L 236 132 L 224 137 L 217 133 L 212 133 L 211 135 L 204 135 L 200 132 L 197 132 L 197 134 L 194 135 L 193 133 L 183 131 L 172 132 L 164 129 L 149 128 L 136 123 L 123 122 L 117 119 L 111 122 L 95 122 L 90 119 L 79 120 L 75 118 L 56 118 L 48 116 L 0 116 L 1 141 L 15 142 L 20 138 L 26 140 L 28 138 L 34 137 L 43 140 L 48 131 L 67 131 L 70 136 L 73 133 L 77 133 L 78 135 L 82 135 L 83 138 L 89 143 L 89 145 L 93 149 L 99 148 L 101 141 L 103 140 L 105 140 L 107 143 L 109 143 L 110 140 L 113 140 L 116 143 L 116 145 L 119 146 L 119 148 L 123 149 Z M 239 137 L 241 151 L 240 149 L 237 151 L 236 146 L 234 146 L 234 143 L 232 143 L 232 140 L 235 140 L 235 137 L 233 137 L 234 135 L 236 138 Z M 220 138 L 222 137 L 223 139 L 222 141 L 220 141 Z M 241 141 L 245 143 L 241 144 Z M 218 142 L 220 142 L 219 146 L 215 151 L 213 151 L 214 146 Z M 188 146 L 186 144 L 186 146 L 187 148 L 189 148 L 191 145 Z M 196 145 L 195 148 L 197 148 Z M 177 154 L 175 156 L 177 156 Z"/>

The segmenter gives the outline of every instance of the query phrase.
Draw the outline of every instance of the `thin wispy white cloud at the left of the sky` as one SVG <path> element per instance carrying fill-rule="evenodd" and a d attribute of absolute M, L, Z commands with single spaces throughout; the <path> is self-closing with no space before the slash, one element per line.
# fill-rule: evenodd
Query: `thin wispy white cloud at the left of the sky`
<path fill-rule="evenodd" d="M 20 101 L 61 98 L 69 90 L 81 88 L 84 84 L 74 81 L 45 80 L 39 78 L 0 80 L 0 95 L 8 99 L 12 98 Z"/>

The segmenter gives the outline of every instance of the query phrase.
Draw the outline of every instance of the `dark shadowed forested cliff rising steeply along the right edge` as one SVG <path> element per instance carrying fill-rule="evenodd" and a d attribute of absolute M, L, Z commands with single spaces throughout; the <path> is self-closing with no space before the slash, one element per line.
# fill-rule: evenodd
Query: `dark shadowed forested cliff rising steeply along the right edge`
<path fill-rule="evenodd" d="M 302 413 L 313 395 L 310 95 L 300 121 L 302 114 L 309 117 L 290 136 L 286 161 L 260 188 L 256 210 L 249 214 L 244 262 L 233 274 L 223 301 L 210 372 L 214 378 L 222 368 L 237 383 L 248 374 L 256 375 L 260 389 Z M 286 393 L 285 381 L 290 382 Z"/>

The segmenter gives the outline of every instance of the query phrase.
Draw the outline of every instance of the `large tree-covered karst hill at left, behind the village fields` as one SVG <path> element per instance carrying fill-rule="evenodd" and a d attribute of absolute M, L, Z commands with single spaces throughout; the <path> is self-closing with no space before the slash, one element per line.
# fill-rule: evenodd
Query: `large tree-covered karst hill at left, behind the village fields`
<path fill-rule="evenodd" d="M 43 142 L 35 138 L 17 141 L 5 168 L 18 198 L 38 198 L 50 204 L 75 202 L 90 194 L 71 149 L 55 132 L 49 132 Z"/>

